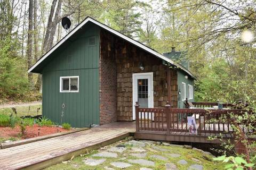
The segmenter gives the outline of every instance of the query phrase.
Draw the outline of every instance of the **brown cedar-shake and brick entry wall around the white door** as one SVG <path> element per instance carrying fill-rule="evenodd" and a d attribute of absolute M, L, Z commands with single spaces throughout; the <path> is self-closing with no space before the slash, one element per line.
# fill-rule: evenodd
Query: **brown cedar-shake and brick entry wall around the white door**
<path fill-rule="evenodd" d="M 103 63 L 107 65 L 103 66 Z M 145 66 L 143 71 L 139 68 L 140 63 Z M 162 59 L 101 29 L 100 122 L 108 123 L 115 121 L 116 118 L 118 121 L 132 121 L 133 73 L 153 72 L 154 107 L 164 107 L 168 100 L 167 69 L 169 68 L 163 65 Z M 170 71 L 170 104 L 172 108 L 177 108 L 177 71 L 172 69 Z M 105 78 L 102 77 L 103 75 Z M 116 88 L 114 87 L 115 84 Z M 104 91 L 107 91 L 108 94 L 102 94 Z M 114 96 L 117 98 L 114 99 Z M 106 101 L 106 104 L 104 101 Z M 114 114 L 116 114 L 116 117 Z"/>

